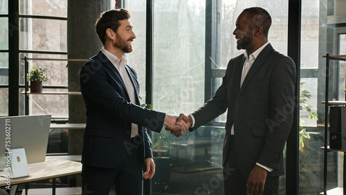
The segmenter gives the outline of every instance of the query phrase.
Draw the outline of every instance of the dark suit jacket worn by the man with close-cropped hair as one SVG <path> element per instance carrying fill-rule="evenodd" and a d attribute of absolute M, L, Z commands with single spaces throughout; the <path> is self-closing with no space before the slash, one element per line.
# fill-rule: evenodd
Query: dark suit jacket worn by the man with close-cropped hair
<path fill-rule="evenodd" d="M 238 167 L 248 178 L 256 163 L 272 168 L 268 176 L 284 174 L 283 153 L 295 107 L 295 64 L 268 44 L 253 62 L 240 87 L 245 57 L 230 60 L 215 96 L 192 113 L 193 129 L 228 109 L 224 138 L 224 167 L 230 158 L 230 131 L 234 124 Z"/>

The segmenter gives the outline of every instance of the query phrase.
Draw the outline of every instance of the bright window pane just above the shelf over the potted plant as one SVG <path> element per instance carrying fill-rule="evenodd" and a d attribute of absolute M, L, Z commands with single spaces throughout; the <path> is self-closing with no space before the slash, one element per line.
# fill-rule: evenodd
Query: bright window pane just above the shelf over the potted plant
<path fill-rule="evenodd" d="M 19 19 L 21 50 L 67 50 L 67 21 L 55 19 Z"/>

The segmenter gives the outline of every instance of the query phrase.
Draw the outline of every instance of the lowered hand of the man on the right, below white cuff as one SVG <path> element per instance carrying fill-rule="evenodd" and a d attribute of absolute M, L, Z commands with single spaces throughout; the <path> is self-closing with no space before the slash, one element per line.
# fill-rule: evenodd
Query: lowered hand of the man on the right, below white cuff
<path fill-rule="evenodd" d="M 264 192 L 264 183 L 266 183 L 266 169 L 255 165 L 248 176 L 248 184 L 246 185 L 247 193 L 250 195 L 260 195 Z"/>

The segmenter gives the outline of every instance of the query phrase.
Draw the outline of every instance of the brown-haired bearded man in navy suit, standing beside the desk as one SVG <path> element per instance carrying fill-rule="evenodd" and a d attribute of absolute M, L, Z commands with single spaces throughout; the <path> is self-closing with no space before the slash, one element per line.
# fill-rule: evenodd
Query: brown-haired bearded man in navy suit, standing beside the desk
<path fill-rule="evenodd" d="M 132 51 L 136 35 L 125 9 L 100 15 L 95 28 L 103 48 L 80 71 L 86 104 L 82 153 L 83 194 L 140 195 L 143 178 L 155 173 L 147 129 L 160 133 L 163 124 L 176 127 L 176 116 L 140 107 L 136 71 L 123 56 Z M 146 172 L 143 174 L 143 165 Z"/>

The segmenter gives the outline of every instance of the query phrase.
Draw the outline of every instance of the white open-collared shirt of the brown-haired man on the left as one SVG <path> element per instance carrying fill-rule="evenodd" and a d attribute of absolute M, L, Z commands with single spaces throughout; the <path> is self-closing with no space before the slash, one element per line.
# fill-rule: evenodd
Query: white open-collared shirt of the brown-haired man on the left
<path fill-rule="evenodd" d="M 101 51 L 109 59 L 109 61 L 111 61 L 111 64 L 116 67 L 116 70 L 118 70 L 122 81 L 125 84 L 127 94 L 129 95 L 131 103 L 136 104 L 136 93 L 134 91 L 134 85 L 132 84 L 129 74 L 127 73 L 125 68 L 127 59 L 124 56 L 122 56 L 121 59 L 118 59 L 118 57 L 110 53 L 108 50 L 105 50 L 104 48 L 101 48 Z M 134 138 L 135 136 L 138 136 L 138 125 L 131 123 L 131 138 Z"/>

